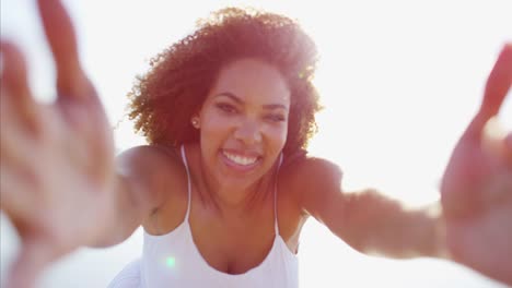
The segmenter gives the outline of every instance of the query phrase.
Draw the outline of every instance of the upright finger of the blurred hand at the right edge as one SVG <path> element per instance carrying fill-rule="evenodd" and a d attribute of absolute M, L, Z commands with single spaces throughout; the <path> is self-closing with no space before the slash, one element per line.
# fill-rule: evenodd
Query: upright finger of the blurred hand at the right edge
<path fill-rule="evenodd" d="M 507 44 L 498 56 L 487 80 L 484 100 L 468 131 L 470 134 L 480 137 L 487 121 L 499 112 L 511 85 L 512 44 Z"/>

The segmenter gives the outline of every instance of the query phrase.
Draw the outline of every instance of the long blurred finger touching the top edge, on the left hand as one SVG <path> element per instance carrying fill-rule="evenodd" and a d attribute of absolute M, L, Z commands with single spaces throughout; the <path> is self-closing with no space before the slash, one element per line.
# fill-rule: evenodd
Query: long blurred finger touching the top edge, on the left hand
<path fill-rule="evenodd" d="M 58 95 L 85 99 L 91 95 L 91 84 L 80 65 L 71 17 L 59 0 L 38 0 L 37 3 L 56 62 Z"/>

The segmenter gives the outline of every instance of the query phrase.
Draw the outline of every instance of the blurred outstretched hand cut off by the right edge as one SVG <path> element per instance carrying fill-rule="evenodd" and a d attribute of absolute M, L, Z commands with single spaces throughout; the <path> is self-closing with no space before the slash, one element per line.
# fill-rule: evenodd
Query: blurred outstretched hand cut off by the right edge
<path fill-rule="evenodd" d="M 480 109 L 453 151 L 442 180 L 447 245 L 455 261 L 512 285 L 512 133 L 491 136 L 512 84 L 512 45 L 498 57 Z"/>

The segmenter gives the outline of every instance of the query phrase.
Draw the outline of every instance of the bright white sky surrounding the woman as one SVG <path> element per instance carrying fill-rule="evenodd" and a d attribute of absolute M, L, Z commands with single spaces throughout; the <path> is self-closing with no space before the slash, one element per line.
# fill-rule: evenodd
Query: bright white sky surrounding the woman
<path fill-rule="evenodd" d="M 415 205 L 438 199 L 451 149 L 480 101 L 498 51 L 512 41 L 509 0 L 66 2 L 113 124 L 123 119 L 135 75 L 209 11 L 248 4 L 298 19 L 319 49 L 316 83 L 326 107 L 311 152 L 342 167 L 347 189 L 375 187 Z M 32 84 L 49 99 L 54 74 L 33 1 L 1 0 L 1 33 L 23 46 Z M 500 115 L 509 130 L 511 103 L 509 97 Z M 143 143 L 128 119 L 115 136 L 119 149 Z M 3 273 L 16 241 L 1 219 Z M 81 250 L 50 269 L 40 287 L 106 286 L 140 254 L 141 242 L 138 230 L 107 251 Z M 301 287 L 501 287 L 446 262 L 362 256 L 314 220 L 304 228 L 300 267 Z"/>

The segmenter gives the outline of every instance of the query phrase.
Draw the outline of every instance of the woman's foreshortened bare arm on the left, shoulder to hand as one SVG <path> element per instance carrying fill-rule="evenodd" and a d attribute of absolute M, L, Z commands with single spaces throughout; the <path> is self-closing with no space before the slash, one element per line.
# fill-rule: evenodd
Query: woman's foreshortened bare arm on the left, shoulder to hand
<path fill-rule="evenodd" d="M 181 169 L 176 154 L 159 146 L 139 146 L 116 159 L 115 204 L 105 233 L 90 245 L 108 247 L 126 240 L 165 201 L 165 182 Z M 167 191 L 168 192 L 168 191 Z"/>

